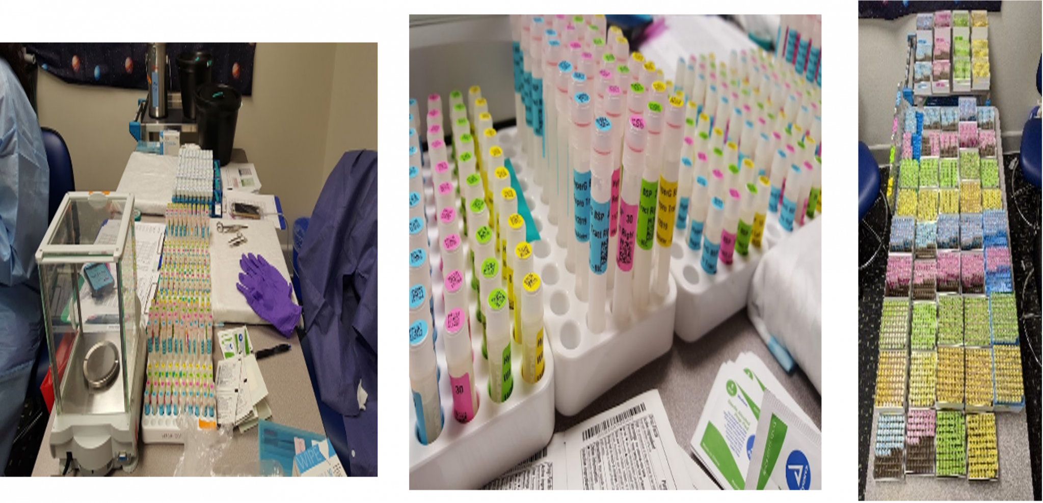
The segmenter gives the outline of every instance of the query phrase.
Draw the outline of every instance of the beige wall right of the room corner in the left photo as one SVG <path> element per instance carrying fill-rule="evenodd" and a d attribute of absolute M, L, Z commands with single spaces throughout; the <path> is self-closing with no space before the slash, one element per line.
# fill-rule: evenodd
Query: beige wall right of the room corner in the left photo
<path fill-rule="evenodd" d="M 348 150 L 377 150 L 377 43 L 338 42 L 322 181 Z"/>

